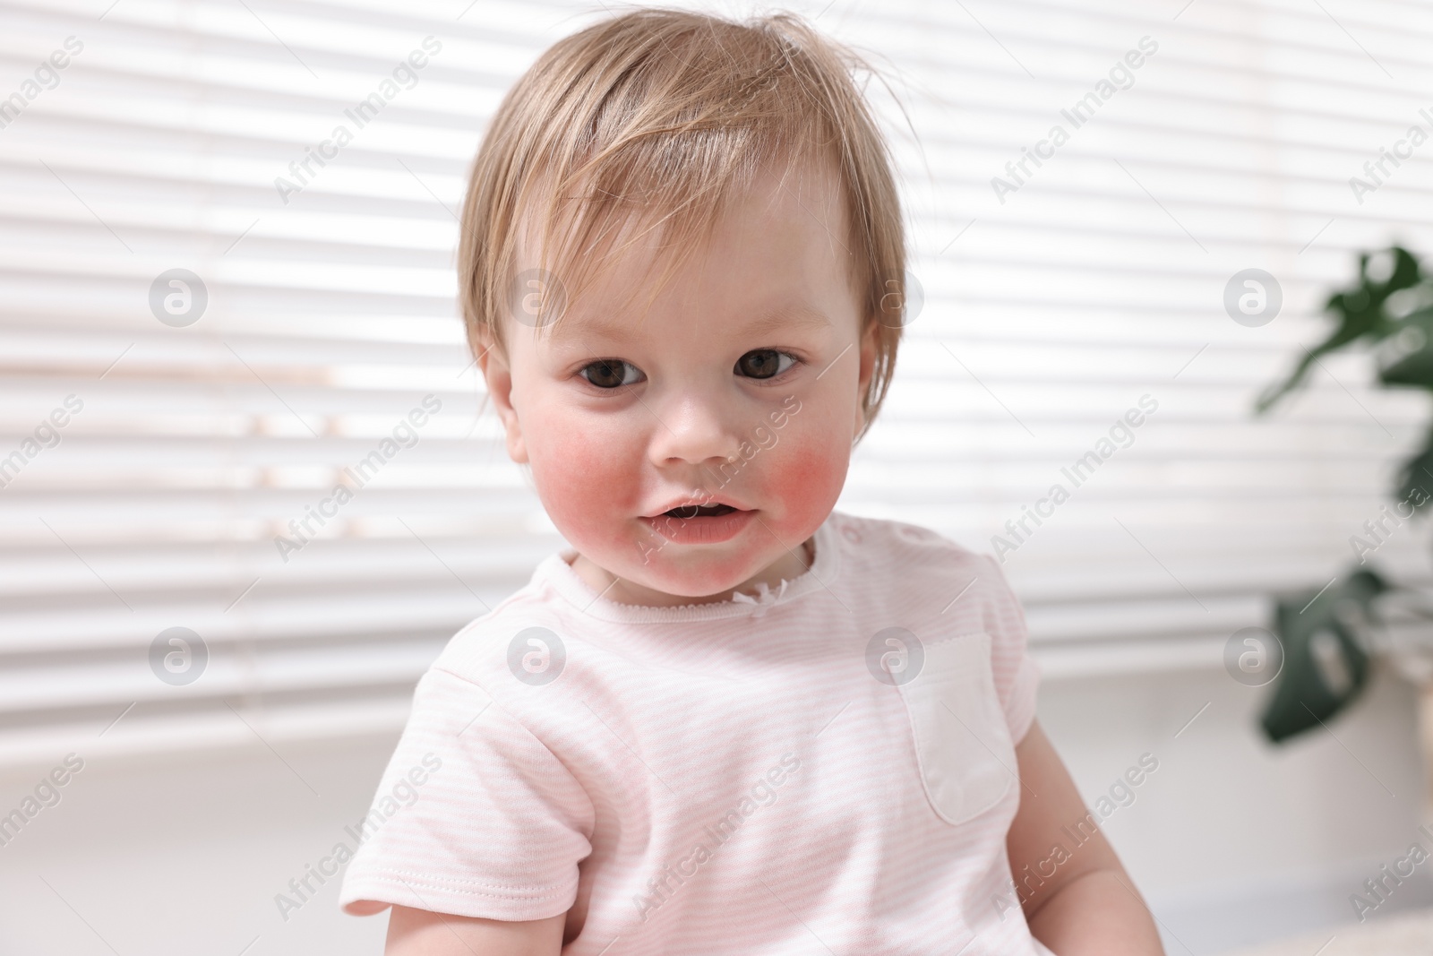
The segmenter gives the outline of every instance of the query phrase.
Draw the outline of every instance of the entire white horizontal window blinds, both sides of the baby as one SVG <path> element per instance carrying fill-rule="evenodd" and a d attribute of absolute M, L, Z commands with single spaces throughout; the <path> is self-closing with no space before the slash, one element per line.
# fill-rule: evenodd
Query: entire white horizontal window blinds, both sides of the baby
<path fill-rule="evenodd" d="M 903 73 L 924 150 L 897 143 L 926 305 L 843 506 L 987 549 L 1141 396 L 1159 403 L 1009 556 L 1050 669 L 1217 659 L 1270 588 L 1350 556 L 1420 421 L 1353 358 L 1326 361 L 1341 384 L 1315 373 L 1275 419 L 1248 417 L 1353 249 L 1433 248 L 1417 162 L 1363 205 L 1347 185 L 1417 122 L 1429 14 L 1324 6 L 1338 23 L 1209 0 L 1178 20 L 808 10 Z M 479 414 L 454 214 L 503 92 L 600 10 L 105 7 L 0 3 L 0 95 L 83 43 L 0 128 L 0 454 L 24 459 L 0 489 L 0 760 L 396 727 L 441 642 L 559 543 Z M 1146 34 L 1134 86 L 1002 205 L 990 178 Z M 360 126 L 345 110 L 373 96 Z M 1221 305 L 1248 267 L 1284 290 L 1261 328 Z M 150 311 L 171 269 L 208 292 L 186 327 Z M 160 312 L 166 295 L 183 290 L 160 284 Z M 42 449 L 52 413 L 62 437 Z M 331 515 L 317 527 L 310 509 Z M 305 517 L 311 543 L 289 529 Z M 277 535 L 302 543 L 287 562 Z M 1379 556 L 1413 573 L 1416 539 Z M 208 648 L 191 684 L 150 668 L 171 628 Z M 182 651 L 165 644 L 159 669 Z"/>

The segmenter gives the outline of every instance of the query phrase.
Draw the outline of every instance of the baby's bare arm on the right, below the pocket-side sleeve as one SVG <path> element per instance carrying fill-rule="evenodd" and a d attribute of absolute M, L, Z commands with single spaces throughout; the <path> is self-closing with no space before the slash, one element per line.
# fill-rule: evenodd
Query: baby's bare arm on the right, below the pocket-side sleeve
<path fill-rule="evenodd" d="M 1030 932 L 1058 956 L 1164 956 L 1154 917 L 1105 834 L 1093 830 L 1075 846 L 1063 830 L 1086 810 L 1039 724 L 1015 754 L 1020 810 L 1006 850 Z"/>

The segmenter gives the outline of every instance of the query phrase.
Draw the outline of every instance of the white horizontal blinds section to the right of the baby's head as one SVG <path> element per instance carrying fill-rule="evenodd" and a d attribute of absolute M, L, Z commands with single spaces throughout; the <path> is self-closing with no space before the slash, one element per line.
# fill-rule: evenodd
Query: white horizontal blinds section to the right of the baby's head
<path fill-rule="evenodd" d="M 933 188 L 906 163 L 926 305 L 845 503 L 980 549 L 1005 536 L 1049 674 L 1218 665 L 1271 591 L 1321 586 L 1354 558 L 1348 537 L 1379 517 L 1427 416 L 1420 396 L 1370 390 L 1361 357 L 1323 360 L 1267 420 L 1251 406 L 1321 341 L 1318 310 L 1357 249 L 1433 254 L 1433 145 L 1384 162 L 1371 193 L 1348 182 L 1409 126 L 1433 133 L 1419 112 L 1433 9 L 1182 7 L 914 4 L 847 21 L 917 87 Z M 1022 172 L 1037 145 L 1043 165 Z M 1251 267 L 1283 288 L 1262 327 L 1222 305 Z M 1158 410 L 1118 429 L 1076 487 L 1062 469 L 1146 394 Z M 1069 497 L 1042 525 L 1005 530 L 1055 484 Z M 1387 539 L 1376 559 L 1426 579 L 1426 532 Z"/>

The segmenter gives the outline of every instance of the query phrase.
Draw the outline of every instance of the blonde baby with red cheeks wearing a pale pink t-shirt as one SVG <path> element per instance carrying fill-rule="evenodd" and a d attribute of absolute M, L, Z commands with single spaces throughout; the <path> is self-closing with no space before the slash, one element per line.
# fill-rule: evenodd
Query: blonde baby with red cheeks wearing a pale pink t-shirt
<path fill-rule="evenodd" d="M 833 512 L 904 318 L 856 66 L 652 9 L 500 105 L 463 311 L 572 548 L 418 681 L 341 894 L 387 953 L 1162 952 L 999 566 Z"/>

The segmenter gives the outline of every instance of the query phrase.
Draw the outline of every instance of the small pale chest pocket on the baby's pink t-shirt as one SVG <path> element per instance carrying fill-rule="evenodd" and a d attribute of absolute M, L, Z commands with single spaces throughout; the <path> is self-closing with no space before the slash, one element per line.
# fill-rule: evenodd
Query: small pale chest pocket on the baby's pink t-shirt
<path fill-rule="evenodd" d="M 926 797 L 941 820 L 959 826 L 1016 784 L 1015 745 L 990 672 L 990 635 L 947 638 L 924 651 L 924 665 L 900 694 Z"/>

